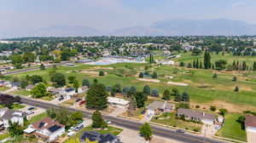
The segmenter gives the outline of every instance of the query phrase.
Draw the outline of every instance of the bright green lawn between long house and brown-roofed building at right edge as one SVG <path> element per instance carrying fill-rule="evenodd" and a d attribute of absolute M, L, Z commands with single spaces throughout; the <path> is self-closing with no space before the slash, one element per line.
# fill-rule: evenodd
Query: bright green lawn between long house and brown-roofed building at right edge
<path fill-rule="evenodd" d="M 224 117 L 224 127 L 218 131 L 217 135 L 223 136 L 225 138 L 246 141 L 247 140 L 246 131 L 241 129 L 240 123 L 236 122 L 239 116 L 241 115 L 227 114 Z"/>

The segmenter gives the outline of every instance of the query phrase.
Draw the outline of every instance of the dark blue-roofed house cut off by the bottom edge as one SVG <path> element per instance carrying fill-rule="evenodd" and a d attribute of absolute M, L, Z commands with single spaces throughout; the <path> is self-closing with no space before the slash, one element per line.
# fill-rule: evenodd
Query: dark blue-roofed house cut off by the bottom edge
<path fill-rule="evenodd" d="M 81 142 L 97 141 L 98 143 L 121 143 L 119 138 L 113 134 L 100 134 L 96 131 L 85 131 L 80 137 Z"/>

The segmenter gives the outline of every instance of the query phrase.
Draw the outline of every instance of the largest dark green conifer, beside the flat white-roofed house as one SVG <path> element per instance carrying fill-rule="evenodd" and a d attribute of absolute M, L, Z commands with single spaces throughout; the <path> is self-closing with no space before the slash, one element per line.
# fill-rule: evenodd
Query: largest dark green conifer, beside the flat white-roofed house
<path fill-rule="evenodd" d="M 108 92 L 102 83 L 91 85 L 86 96 L 86 108 L 103 110 L 108 107 Z"/>

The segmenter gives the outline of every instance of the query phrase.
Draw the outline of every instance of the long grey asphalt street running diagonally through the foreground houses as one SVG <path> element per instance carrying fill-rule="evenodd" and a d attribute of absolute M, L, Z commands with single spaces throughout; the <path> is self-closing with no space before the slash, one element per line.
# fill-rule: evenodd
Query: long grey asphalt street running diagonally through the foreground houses
<path fill-rule="evenodd" d="M 21 102 L 28 104 L 30 106 L 38 106 L 38 107 L 41 107 L 44 109 L 48 109 L 50 107 L 55 107 L 55 108 L 60 107 L 60 106 L 57 106 L 57 105 L 54 105 L 51 103 L 38 101 L 38 100 L 31 100 L 31 99 L 27 99 L 24 97 L 21 97 Z M 74 108 L 70 108 L 70 107 L 66 107 L 66 108 L 71 112 L 75 112 L 75 111 L 83 112 L 84 117 L 89 117 L 89 118 L 91 117 L 90 112 L 86 112 L 86 111 L 82 111 L 82 110 L 74 109 Z M 140 126 L 143 125 L 143 123 L 135 122 L 132 120 L 127 120 L 127 119 L 120 118 L 120 117 L 110 117 L 110 116 L 106 116 L 106 115 L 103 115 L 103 117 L 107 120 L 110 120 L 112 123 L 119 125 L 120 127 L 127 128 L 127 129 L 139 130 Z M 151 128 L 153 129 L 153 133 L 155 135 L 169 138 L 172 140 L 178 140 L 178 141 L 181 141 L 184 143 L 224 143 L 224 141 L 204 138 L 201 135 L 177 133 L 173 129 L 162 128 L 162 127 L 156 126 L 156 125 L 151 125 Z"/>

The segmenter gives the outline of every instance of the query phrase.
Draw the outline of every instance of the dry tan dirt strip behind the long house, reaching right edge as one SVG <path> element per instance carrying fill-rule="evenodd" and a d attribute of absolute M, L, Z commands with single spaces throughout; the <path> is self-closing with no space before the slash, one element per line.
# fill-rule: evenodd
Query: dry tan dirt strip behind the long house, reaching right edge
<path fill-rule="evenodd" d="M 232 104 L 228 102 L 224 102 L 222 100 L 214 100 L 212 102 L 208 102 L 206 104 L 199 104 L 199 103 L 190 103 L 191 106 L 201 106 L 201 109 L 209 109 L 210 106 L 216 106 L 217 109 L 227 109 L 228 112 L 244 112 L 244 111 L 256 111 L 255 106 L 248 106 L 248 105 L 239 105 L 239 104 Z"/>

